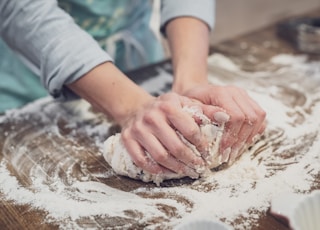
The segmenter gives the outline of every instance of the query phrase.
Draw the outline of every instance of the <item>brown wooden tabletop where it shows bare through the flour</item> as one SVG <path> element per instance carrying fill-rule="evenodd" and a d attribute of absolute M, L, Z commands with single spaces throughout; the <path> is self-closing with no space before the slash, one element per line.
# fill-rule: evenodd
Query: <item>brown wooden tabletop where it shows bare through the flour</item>
<path fill-rule="evenodd" d="M 318 11 L 319 12 L 319 11 Z M 276 36 L 275 26 L 261 29 L 246 36 L 241 36 L 230 41 L 223 42 L 212 48 L 212 52 L 222 53 L 231 58 L 236 64 L 248 72 L 258 70 L 270 70 L 275 68 L 267 61 L 274 55 L 279 53 L 298 53 L 290 44 L 279 39 Z M 311 58 L 318 58 L 310 56 Z M 138 84 L 143 84 L 150 76 L 158 73 L 158 67 L 162 70 L 171 71 L 171 66 L 167 61 L 156 65 L 148 66 L 128 73 Z M 158 85 L 154 94 L 159 94 L 170 88 L 170 82 L 165 82 L 163 85 Z M 28 187 L 32 184 L 30 175 L 33 176 L 35 164 L 46 166 L 46 175 L 42 178 L 42 182 L 53 183 L 51 180 L 57 176 L 69 183 L 70 175 L 72 177 L 82 179 L 89 178 L 90 181 L 104 183 L 119 191 L 130 192 L 137 188 L 154 188 L 153 184 L 145 184 L 142 182 L 130 180 L 123 177 L 118 177 L 109 173 L 108 177 L 105 172 L 112 171 L 103 160 L 99 147 L 96 145 L 99 141 L 102 143 L 106 137 L 118 129 L 111 127 L 110 132 L 94 130 L 96 125 L 101 125 L 104 118 L 97 116 L 96 118 L 81 118 L 75 120 L 74 114 L 77 111 L 72 111 L 68 106 L 57 105 L 56 102 L 49 100 L 49 103 L 40 103 L 37 107 L 39 111 L 28 110 L 28 113 L 19 113 L 18 117 L 10 117 L 4 123 L 0 123 L 0 160 L 7 159 L 8 171 L 17 178 L 22 186 Z M 55 109 L 59 108 L 59 115 L 55 113 Z M 21 110 L 23 111 L 23 109 Z M 30 112 L 31 111 L 31 112 Z M 58 112 L 58 111 L 57 111 Z M 39 114 L 45 114 L 41 116 Z M 73 124 L 70 126 L 69 121 L 73 119 Z M 52 124 L 56 125 L 56 131 L 52 132 Z M 50 126 L 51 128 L 46 128 Z M 76 127 L 75 127 L 76 126 Z M 86 127 L 91 133 L 74 132 L 74 128 Z M 57 135 L 57 133 L 59 135 Z M 9 143 L 9 144 L 8 144 Z M 85 148 L 83 148 L 85 146 Z M 15 154 L 16 148 L 20 152 L 30 152 L 29 157 L 23 157 Z M 12 155 L 13 154 L 13 155 Z M 23 154 L 22 154 L 23 155 Z M 41 160 L 39 160 L 41 159 Z M 69 162 L 65 159 L 71 159 Z M 11 161 L 14 161 L 12 163 Z M 36 163 L 35 163 L 36 162 Z M 62 162 L 62 163 L 61 163 Z M 12 163 L 12 164 L 11 164 Z M 60 164 L 61 163 L 61 164 Z M 21 169 L 18 170 L 18 169 Z M 71 170 L 70 175 L 65 172 Z M 320 173 L 314 178 L 315 185 L 312 189 L 320 189 Z M 192 184 L 192 180 L 182 179 L 173 182 L 166 182 L 163 186 L 180 186 L 183 184 Z M 1 191 L 1 190 L 0 190 Z M 150 196 L 150 194 L 140 194 L 141 196 Z M 164 196 L 164 194 L 157 194 Z M 0 229 L 58 229 L 59 225 L 67 226 L 66 221 L 46 222 L 45 211 L 32 209 L 29 205 L 19 205 L 10 199 L 6 199 L 4 194 L 0 193 Z M 181 197 L 180 197 L 181 198 Z M 179 200 L 179 198 L 177 198 Z M 188 206 L 188 202 L 182 198 L 180 202 Z M 168 220 L 170 215 L 174 215 L 172 207 L 162 207 L 166 213 Z M 171 214 L 170 214 L 171 213 Z M 123 223 L 129 223 L 129 229 L 142 229 L 148 226 L 148 223 L 136 221 L 135 213 L 132 213 L 134 218 L 99 218 L 94 216 L 91 219 L 82 218 L 82 222 L 78 223 L 78 227 L 84 228 L 106 228 L 119 227 Z M 272 230 L 288 229 L 285 220 L 274 218 L 269 211 L 259 213 L 260 218 L 258 224 L 252 226 L 251 229 Z M 153 221 L 168 221 L 166 219 L 154 219 Z M 150 224 L 150 223 L 149 223 Z M 236 225 L 236 223 L 235 223 Z M 159 228 L 161 229 L 161 228 Z"/>

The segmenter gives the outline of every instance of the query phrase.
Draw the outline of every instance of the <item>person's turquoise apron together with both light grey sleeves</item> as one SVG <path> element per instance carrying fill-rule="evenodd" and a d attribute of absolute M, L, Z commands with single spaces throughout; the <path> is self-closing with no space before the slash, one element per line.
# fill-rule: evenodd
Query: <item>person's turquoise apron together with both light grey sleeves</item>
<path fill-rule="evenodd" d="M 47 95 L 43 88 L 77 98 L 66 85 L 107 61 L 128 71 L 161 60 L 151 9 L 151 0 L 1 0 L 0 112 Z M 161 0 L 161 32 L 181 16 L 212 28 L 213 12 L 214 0 Z"/>

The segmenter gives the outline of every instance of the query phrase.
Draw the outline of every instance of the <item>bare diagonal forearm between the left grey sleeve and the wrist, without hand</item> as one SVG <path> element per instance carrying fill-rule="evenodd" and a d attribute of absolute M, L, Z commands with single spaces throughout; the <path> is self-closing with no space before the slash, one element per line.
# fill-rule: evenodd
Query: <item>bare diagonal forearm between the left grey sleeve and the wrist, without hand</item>
<path fill-rule="evenodd" d="M 103 63 L 68 87 L 94 108 L 122 125 L 153 97 L 125 76 L 112 62 Z"/>

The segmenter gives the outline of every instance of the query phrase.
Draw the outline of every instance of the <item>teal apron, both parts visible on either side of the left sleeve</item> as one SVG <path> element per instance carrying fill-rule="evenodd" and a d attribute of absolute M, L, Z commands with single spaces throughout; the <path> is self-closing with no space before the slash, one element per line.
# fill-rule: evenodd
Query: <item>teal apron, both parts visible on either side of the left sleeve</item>
<path fill-rule="evenodd" d="M 162 46 L 149 26 L 152 1 L 59 0 L 58 3 L 98 41 L 122 71 L 163 59 Z M 39 77 L 0 39 L 0 113 L 47 95 Z"/>

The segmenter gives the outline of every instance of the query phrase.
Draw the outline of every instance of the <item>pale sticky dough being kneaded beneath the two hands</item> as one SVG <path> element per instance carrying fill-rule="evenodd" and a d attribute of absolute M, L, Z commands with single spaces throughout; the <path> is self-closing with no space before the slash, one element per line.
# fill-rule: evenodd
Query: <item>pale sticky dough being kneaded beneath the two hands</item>
<path fill-rule="evenodd" d="M 202 155 L 202 158 L 207 163 L 207 166 L 198 168 L 196 170 L 198 173 L 198 177 L 201 177 L 204 176 L 206 172 L 209 171 L 209 169 L 218 167 L 223 163 L 221 155 L 218 154 L 218 148 L 224 130 L 224 123 L 220 125 L 213 123 L 202 113 L 202 111 L 198 107 L 185 107 L 184 111 L 190 114 L 190 116 L 197 117 L 201 120 L 202 124 L 200 124 L 200 130 L 210 143 L 207 154 Z M 227 114 L 222 112 L 218 112 L 218 116 L 228 117 Z M 224 120 L 228 120 L 228 118 Z M 177 134 L 179 135 L 181 140 L 194 152 L 194 154 L 201 156 L 194 145 L 188 142 L 179 132 L 177 132 Z M 104 142 L 103 156 L 117 174 L 128 176 L 133 179 L 142 180 L 144 182 L 152 181 L 159 185 L 164 180 L 186 177 L 186 175 L 177 174 L 174 172 L 155 175 L 137 167 L 131 160 L 129 153 L 124 147 L 121 141 L 120 133 L 110 136 Z"/>

